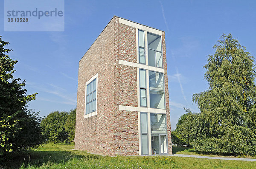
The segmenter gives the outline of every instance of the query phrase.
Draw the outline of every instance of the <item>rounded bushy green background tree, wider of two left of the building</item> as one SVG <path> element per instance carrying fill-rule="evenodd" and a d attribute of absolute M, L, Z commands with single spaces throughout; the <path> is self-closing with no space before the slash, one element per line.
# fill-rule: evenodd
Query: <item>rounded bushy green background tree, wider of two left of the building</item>
<path fill-rule="evenodd" d="M 68 132 L 64 127 L 67 115 L 67 112 L 55 111 L 42 119 L 41 126 L 48 142 L 54 144 L 68 142 Z"/>

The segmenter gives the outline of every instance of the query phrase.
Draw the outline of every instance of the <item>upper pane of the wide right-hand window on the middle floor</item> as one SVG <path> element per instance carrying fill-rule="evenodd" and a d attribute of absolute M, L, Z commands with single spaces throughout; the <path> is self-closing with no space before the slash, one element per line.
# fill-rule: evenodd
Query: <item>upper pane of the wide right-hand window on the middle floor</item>
<path fill-rule="evenodd" d="M 149 87 L 154 90 L 164 90 L 163 73 L 148 71 Z"/>

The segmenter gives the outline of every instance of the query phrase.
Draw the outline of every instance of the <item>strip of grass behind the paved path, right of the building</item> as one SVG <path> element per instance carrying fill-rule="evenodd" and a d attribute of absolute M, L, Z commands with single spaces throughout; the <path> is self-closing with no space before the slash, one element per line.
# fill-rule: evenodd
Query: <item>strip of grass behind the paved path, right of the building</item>
<path fill-rule="evenodd" d="M 248 155 L 239 155 L 239 156 L 233 156 L 233 155 L 217 155 L 217 154 L 203 154 L 201 152 L 195 151 L 192 147 L 180 147 L 180 146 L 173 146 L 172 147 L 173 154 L 186 154 L 186 155 L 204 155 L 204 156 L 210 156 L 210 157 L 230 157 L 230 158 L 254 158 L 255 156 L 248 156 Z"/>

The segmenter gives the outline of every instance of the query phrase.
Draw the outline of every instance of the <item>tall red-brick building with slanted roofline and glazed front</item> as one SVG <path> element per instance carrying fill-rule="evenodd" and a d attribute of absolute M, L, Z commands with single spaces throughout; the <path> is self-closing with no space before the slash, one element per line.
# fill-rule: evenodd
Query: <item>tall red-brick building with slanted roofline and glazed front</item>
<path fill-rule="evenodd" d="M 114 16 L 79 61 L 75 149 L 172 154 L 165 32 Z"/>

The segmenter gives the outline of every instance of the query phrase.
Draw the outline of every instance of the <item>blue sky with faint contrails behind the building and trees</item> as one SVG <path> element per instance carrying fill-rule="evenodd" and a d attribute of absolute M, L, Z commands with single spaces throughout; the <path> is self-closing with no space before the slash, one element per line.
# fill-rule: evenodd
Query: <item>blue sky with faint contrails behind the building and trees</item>
<path fill-rule="evenodd" d="M 65 0 L 64 32 L 5 32 L 0 2 L 0 35 L 19 62 L 15 77 L 27 94 L 39 93 L 29 108 L 45 116 L 76 107 L 78 62 L 113 15 L 166 31 L 171 126 L 183 107 L 198 112 L 192 94 L 208 88 L 203 66 L 221 34 L 231 33 L 256 56 L 254 0 Z"/>

